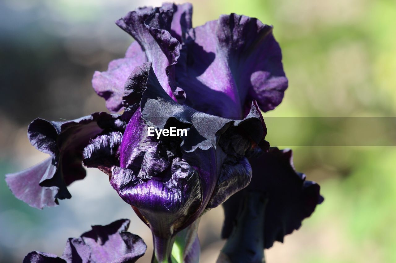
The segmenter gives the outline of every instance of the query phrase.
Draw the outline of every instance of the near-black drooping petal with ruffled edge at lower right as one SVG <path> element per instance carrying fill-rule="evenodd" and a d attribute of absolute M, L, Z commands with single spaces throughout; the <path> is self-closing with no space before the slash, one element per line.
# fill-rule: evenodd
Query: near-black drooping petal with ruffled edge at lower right
<path fill-rule="evenodd" d="M 318 184 L 306 181 L 304 174 L 295 171 L 291 150 L 270 148 L 259 157 L 249 158 L 249 163 L 253 171 L 251 183 L 223 203 L 225 222 L 221 234 L 228 238 L 235 227 L 240 227 L 235 225 L 235 220 L 244 196 L 261 192 L 268 199 L 263 220 L 263 244 L 264 248 L 270 248 L 275 241 L 283 242 L 285 235 L 299 229 L 301 222 L 324 199 Z"/>

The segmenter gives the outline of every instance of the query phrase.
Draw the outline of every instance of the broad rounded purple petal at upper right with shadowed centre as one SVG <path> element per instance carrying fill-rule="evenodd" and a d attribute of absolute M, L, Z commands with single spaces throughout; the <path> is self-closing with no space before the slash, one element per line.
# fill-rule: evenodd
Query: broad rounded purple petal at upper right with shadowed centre
<path fill-rule="evenodd" d="M 176 82 L 187 93 L 190 107 L 241 119 L 252 100 L 263 111 L 282 101 L 287 79 L 271 26 L 231 14 L 189 35 L 176 65 Z"/>

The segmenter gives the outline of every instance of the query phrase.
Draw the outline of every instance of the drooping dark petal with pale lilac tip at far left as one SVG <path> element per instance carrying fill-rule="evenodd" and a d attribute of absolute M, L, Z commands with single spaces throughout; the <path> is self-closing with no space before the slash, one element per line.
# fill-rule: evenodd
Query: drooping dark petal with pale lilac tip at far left
<path fill-rule="evenodd" d="M 31 207 L 42 209 L 70 198 L 67 186 L 83 179 L 83 150 L 89 140 L 110 129 L 122 129 L 117 115 L 93 113 L 76 120 L 49 122 L 37 118 L 28 128 L 30 143 L 51 157 L 24 171 L 6 175 L 13 194 Z"/>

